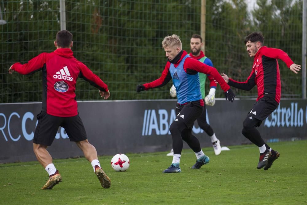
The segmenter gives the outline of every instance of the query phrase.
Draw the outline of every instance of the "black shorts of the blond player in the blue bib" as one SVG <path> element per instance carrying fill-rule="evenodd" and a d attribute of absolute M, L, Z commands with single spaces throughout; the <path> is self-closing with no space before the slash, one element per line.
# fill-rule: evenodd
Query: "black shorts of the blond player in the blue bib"
<path fill-rule="evenodd" d="M 188 129 L 192 129 L 195 120 L 201 115 L 203 109 L 204 106 L 200 105 L 200 101 L 192 101 L 187 104 L 177 104 L 177 117 L 175 120 L 183 121 Z"/>

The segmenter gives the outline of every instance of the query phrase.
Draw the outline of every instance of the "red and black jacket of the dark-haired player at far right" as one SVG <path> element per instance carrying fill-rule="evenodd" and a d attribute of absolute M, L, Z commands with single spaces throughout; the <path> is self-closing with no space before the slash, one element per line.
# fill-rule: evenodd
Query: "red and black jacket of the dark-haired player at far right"
<path fill-rule="evenodd" d="M 281 83 L 277 59 L 286 63 L 288 68 L 293 64 L 287 53 L 281 49 L 262 46 L 254 57 L 253 69 L 250 76 L 244 82 L 229 78 L 228 85 L 242 90 L 251 90 L 255 85 L 258 89 L 258 98 L 269 95 L 280 102 Z"/>

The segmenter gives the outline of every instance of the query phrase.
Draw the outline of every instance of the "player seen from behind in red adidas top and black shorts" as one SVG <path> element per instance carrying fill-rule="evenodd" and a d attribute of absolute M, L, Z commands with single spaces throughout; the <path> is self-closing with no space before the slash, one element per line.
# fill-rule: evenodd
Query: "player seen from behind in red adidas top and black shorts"
<path fill-rule="evenodd" d="M 97 151 L 88 142 L 83 122 L 78 114 L 75 94 L 77 78 L 81 77 L 98 88 L 104 99 L 110 97 L 110 92 L 108 86 L 97 75 L 73 56 L 72 43 L 70 32 L 59 31 L 54 41 L 56 46 L 54 52 L 41 53 L 23 65 L 15 63 L 10 67 L 9 73 L 16 71 L 29 75 L 42 71 L 42 111 L 37 115 L 38 124 L 33 139 L 33 150 L 37 160 L 49 174 L 49 180 L 41 189 L 52 189 L 62 181 L 47 151 L 47 146 L 52 144 L 59 126 L 65 128 L 70 141 L 76 142 L 85 158 L 91 162 L 101 186 L 109 188 L 111 180 L 101 169 Z"/>

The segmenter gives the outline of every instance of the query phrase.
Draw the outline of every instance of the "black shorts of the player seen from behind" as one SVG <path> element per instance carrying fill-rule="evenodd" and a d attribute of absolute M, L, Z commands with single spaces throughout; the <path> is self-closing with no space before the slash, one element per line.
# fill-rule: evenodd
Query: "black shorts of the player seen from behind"
<path fill-rule="evenodd" d="M 60 126 L 65 129 L 71 142 L 80 142 L 87 139 L 79 114 L 72 117 L 57 117 L 41 111 L 36 117 L 38 124 L 33 138 L 35 144 L 50 146 Z"/>

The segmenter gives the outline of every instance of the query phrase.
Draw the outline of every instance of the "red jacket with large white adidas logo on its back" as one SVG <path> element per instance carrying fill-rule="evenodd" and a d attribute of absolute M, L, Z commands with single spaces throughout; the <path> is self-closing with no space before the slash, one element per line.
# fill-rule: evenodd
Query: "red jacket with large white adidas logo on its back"
<path fill-rule="evenodd" d="M 23 65 L 15 63 L 12 69 L 23 75 L 42 71 L 42 110 L 53 116 L 71 117 L 78 114 L 75 93 L 78 77 L 101 91 L 108 91 L 108 86 L 86 65 L 73 57 L 72 50 L 68 48 L 41 53 Z"/>

